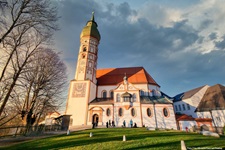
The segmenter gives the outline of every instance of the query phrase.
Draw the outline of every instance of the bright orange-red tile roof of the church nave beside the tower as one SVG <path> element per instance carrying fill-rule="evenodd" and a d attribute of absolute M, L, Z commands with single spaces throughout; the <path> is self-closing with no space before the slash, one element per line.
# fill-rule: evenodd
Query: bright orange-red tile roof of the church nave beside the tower
<path fill-rule="evenodd" d="M 98 85 L 117 85 L 127 76 L 132 84 L 148 83 L 159 86 L 143 67 L 98 69 L 96 78 Z"/>

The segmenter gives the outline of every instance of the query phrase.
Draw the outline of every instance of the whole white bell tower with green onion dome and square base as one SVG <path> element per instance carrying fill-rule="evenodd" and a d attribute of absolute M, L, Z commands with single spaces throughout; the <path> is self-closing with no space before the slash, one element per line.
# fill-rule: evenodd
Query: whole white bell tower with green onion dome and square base
<path fill-rule="evenodd" d="M 66 115 L 70 126 L 87 125 L 88 104 L 96 98 L 96 69 L 100 34 L 92 13 L 80 34 L 80 47 L 74 80 L 70 81 Z"/>

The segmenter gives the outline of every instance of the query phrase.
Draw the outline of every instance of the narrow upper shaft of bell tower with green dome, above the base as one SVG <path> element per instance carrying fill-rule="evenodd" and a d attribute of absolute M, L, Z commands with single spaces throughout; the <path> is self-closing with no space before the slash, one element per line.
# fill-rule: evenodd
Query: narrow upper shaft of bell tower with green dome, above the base
<path fill-rule="evenodd" d="M 96 69 L 98 58 L 98 44 L 100 34 L 98 25 L 94 19 L 94 12 L 91 20 L 83 28 L 80 34 L 80 49 L 77 60 L 75 80 L 91 80 L 96 84 Z"/>

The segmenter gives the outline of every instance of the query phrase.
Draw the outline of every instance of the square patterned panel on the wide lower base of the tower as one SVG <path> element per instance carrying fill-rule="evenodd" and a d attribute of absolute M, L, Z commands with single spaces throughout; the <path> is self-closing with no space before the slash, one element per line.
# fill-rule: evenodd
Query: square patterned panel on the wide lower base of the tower
<path fill-rule="evenodd" d="M 86 83 L 74 83 L 72 97 L 85 97 L 86 93 Z"/>

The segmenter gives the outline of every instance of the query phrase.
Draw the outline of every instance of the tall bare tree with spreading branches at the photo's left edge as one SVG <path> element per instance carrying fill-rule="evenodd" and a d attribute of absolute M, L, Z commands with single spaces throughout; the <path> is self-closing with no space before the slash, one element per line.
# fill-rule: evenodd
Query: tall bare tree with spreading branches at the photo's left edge
<path fill-rule="evenodd" d="M 4 11 L 0 18 L 0 117 L 31 57 L 50 42 L 58 19 L 48 0 L 9 0 Z"/>

